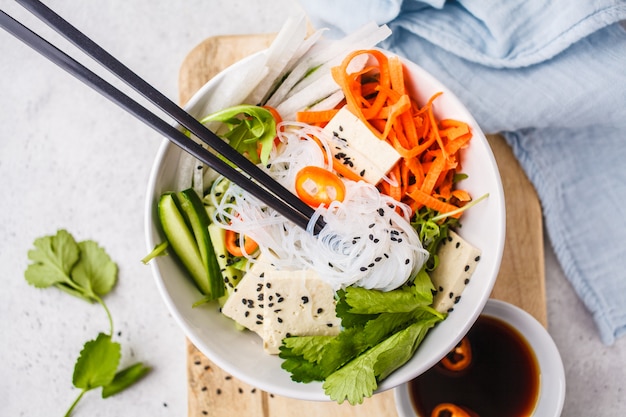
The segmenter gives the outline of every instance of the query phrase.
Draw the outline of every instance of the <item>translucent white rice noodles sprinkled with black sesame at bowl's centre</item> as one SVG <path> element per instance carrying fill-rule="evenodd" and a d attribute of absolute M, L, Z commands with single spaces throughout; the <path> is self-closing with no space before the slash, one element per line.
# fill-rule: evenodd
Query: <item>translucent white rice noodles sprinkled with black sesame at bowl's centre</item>
<path fill-rule="evenodd" d="M 305 166 L 326 166 L 332 154 L 321 129 L 297 123 L 280 125 L 280 145 L 264 169 L 295 193 L 295 175 Z M 213 189 L 223 188 L 220 178 Z M 317 236 L 296 227 L 275 210 L 230 184 L 225 193 L 211 192 L 217 208 L 213 220 L 225 229 L 249 236 L 259 244 L 264 261 L 277 269 L 313 269 L 338 290 L 349 285 L 389 291 L 414 277 L 428 258 L 417 233 L 409 223 L 410 210 L 381 194 L 364 181 L 344 180 L 342 202 L 320 207 L 309 229 L 322 216 L 326 226 Z M 247 255 L 252 261 L 251 255 Z"/>

